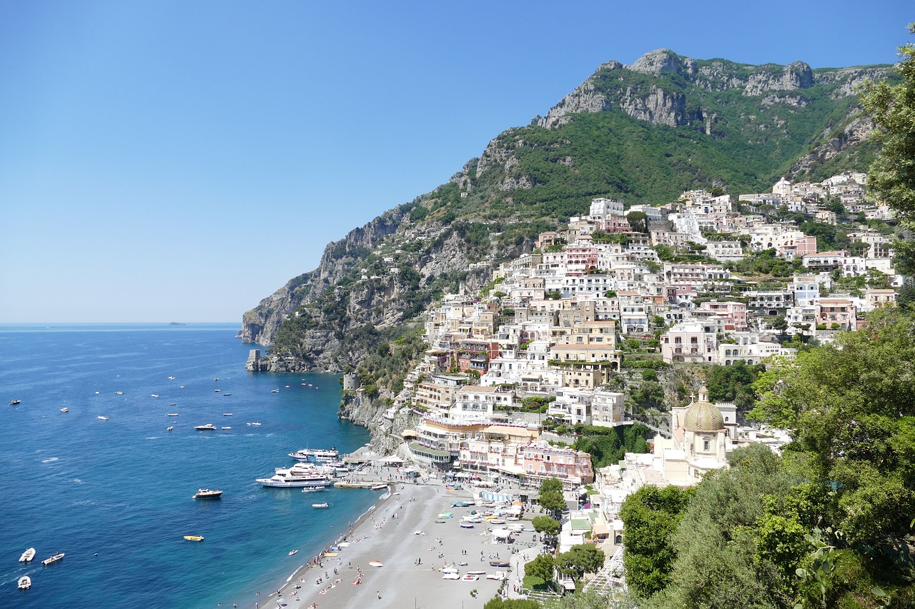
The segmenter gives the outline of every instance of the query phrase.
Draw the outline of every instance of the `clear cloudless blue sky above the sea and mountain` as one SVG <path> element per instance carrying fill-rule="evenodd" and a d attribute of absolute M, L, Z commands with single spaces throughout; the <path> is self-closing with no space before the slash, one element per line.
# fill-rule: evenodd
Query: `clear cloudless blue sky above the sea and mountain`
<path fill-rule="evenodd" d="M 0 0 L 0 323 L 240 322 L 605 61 L 891 63 L 913 9 Z"/>

